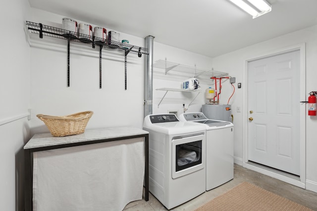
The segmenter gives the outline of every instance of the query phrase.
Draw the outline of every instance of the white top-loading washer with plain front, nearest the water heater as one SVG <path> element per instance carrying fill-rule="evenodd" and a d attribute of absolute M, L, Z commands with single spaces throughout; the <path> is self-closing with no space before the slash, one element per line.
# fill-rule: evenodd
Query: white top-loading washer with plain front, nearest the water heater
<path fill-rule="evenodd" d="M 181 114 L 179 120 L 205 126 L 206 190 L 233 179 L 233 124 L 207 119 L 201 112 Z"/>

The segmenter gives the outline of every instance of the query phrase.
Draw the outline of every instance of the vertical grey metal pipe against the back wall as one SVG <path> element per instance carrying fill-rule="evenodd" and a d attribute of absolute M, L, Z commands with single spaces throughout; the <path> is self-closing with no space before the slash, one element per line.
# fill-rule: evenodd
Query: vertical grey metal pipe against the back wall
<path fill-rule="evenodd" d="M 145 61 L 145 116 L 153 113 L 153 40 L 153 36 L 145 38 L 145 47 L 149 50 Z"/>

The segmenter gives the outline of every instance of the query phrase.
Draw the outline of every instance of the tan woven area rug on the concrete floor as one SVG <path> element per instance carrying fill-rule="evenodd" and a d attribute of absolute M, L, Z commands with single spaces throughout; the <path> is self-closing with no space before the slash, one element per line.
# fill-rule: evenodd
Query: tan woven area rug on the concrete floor
<path fill-rule="evenodd" d="M 312 211 L 311 209 L 242 182 L 195 211 Z"/>

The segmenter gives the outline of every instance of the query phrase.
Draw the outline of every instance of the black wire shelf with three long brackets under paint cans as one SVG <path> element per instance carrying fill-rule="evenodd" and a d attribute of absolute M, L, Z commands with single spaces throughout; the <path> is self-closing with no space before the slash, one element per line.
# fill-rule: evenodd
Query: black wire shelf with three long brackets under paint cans
<path fill-rule="evenodd" d="M 69 87 L 70 81 L 70 64 L 69 64 L 69 52 L 70 52 L 70 42 L 81 42 L 86 44 L 91 44 L 92 48 L 99 46 L 99 88 L 102 88 L 102 50 L 104 47 L 110 49 L 116 49 L 119 51 L 124 51 L 124 88 L 127 89 L 127 55 L 129 53 L 138 54 L 138 57 L 142 57 L 142 54 L 149 55 L 147 48 L 139 47 L 135 45 L 130 45 L 127 43 L 115 42 L 103 40 L 95 36 L 88 36 L 85 34 L 80 34 L 72 31 L 67 31 L 64 29 L 43 25 L 41 23 L 34 23 L 26 21 L 26 26 L 29 32 L 33 34 L 38 34 L 41 39 L 43 36 L 58 38 L 62 40 L 67 40 L 67 87 Z"/>

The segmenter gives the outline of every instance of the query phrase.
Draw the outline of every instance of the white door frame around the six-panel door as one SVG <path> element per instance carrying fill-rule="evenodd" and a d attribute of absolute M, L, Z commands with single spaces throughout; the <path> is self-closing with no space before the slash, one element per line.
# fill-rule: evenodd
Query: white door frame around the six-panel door
<path fill-rule="evenodd" d="M 305 43 L 300 43 L 297 45 L 289 46 L 282 49 L 276 49 L 274 51 L 263 53 L 246 59 L 243 64 L 243 81 L 245 84 L 245 90 L 243 94 L 243 102 L 246 105 L 245 114 L 243 115 L 243 158 L 242 166 L 247 169 L 252 169 L 263 173 L 265 175 L 271 176 L 273 178 L 282 180 L 284 182 L 296 185 L 301 188 L 306 188 L 306 104 L 301 103 L 300 105 L 300 178 L 299 180 L 293 177 L 289 177 L 284 174 L 280 174 L 276 171 L 271 171 L 269 169 L 264 169 L 261 167 L 256 167 L 254 165 L 248 164 L 248 152 L 249 152 L 249 137 L 248 137 L 248 64 L 249 62 L 264 59 L 271 56 L 276 56 L 284 53 L 289 53 L 293 51 L 300 51 L 300 99 L 306 99 L 306 49 Z M 300 103 L 300 102 L 298 102 Z"/>

